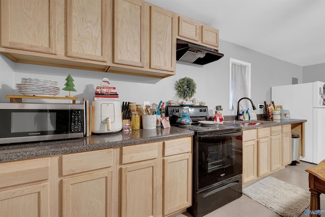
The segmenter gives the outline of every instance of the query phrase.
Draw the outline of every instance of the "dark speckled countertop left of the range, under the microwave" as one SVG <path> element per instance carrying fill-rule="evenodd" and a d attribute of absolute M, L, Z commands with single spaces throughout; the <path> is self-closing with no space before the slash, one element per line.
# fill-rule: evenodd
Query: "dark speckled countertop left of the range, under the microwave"
<path fill-rule="evenodd" d="M 126 145 L 175 139 L 194 134 L 178 127 L 134 130 L 130 133 L 98 134 L 89 137 L 47 142 L 0 145 L 0 162 L 26 160 Z"/>

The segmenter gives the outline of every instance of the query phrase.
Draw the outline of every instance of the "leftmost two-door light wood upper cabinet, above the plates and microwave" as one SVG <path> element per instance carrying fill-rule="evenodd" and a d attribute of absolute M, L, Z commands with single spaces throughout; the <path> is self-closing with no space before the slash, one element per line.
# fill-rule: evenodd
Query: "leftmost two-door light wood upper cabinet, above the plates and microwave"
<path fill-rule="evenodd" d="M 0 0 L 0 52 L 18 63 L 107 71 L 112 2 Z"/>

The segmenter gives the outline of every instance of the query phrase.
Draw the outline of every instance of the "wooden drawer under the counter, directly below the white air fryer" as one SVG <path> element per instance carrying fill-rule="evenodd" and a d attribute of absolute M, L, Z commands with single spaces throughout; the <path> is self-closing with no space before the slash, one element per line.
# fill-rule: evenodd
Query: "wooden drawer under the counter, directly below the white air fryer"
<path fill-rule="evenodd" d="M 62 175 L 80 173 L 113 165 L 112 148 L 64 154 L 62 156 Z"/>

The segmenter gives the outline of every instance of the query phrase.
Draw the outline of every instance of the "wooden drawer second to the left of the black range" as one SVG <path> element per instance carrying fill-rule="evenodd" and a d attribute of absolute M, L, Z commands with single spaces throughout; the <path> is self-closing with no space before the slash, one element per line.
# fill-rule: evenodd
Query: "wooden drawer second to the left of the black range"
<path fill-rule="evenodd" d="M 121 148 L 122 164 L 155 159 L 158 157 L 158 144 L 147 143 L 140 145 L 124 146 Z"/>

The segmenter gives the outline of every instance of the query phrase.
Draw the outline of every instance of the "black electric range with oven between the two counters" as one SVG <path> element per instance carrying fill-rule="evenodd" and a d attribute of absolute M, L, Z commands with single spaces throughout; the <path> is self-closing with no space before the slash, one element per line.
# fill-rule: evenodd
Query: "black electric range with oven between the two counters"
<path fill-rule="evenodd" d="M 167 106 L 172 126 L 178 126 L 183 106 Z M 242 196 L 242 128 L 208 121 L 207 106 L 188 106 L 193 136 L 192 206 L 201 217 Z"/>

